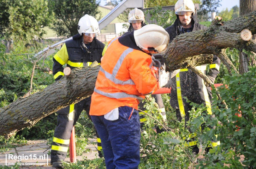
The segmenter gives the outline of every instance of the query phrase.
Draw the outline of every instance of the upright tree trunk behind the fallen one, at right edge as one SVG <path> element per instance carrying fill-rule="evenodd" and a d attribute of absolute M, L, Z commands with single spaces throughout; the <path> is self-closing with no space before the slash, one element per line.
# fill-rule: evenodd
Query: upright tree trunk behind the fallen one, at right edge
<path fill-rule="evenodd" d="M 256 10 L 256 0 L 240 0 L 240 11 L 239 16 L 248 14 Z M 255 40 L 256 35 L 254 34 L 252 37 L 252 41 L 256 43 Z M 256 53 L 252 52 L 249 56 L 240 50 L 239 54 L 239 73 L 243 74 L 248 71 L 249 65 L 256 65 L 255 60 Z"/>

